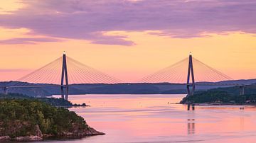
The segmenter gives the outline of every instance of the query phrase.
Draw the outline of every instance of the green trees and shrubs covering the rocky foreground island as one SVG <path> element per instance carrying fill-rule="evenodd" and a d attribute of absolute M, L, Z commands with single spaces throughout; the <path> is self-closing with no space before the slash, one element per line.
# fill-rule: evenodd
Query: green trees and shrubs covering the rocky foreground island
<path fill-rule="evenodd" d="M 43 134 L 71 132 L 73 125 L 85 129 L 83 118 L 66 108 L 56 108 L 31 99 L 0 99 L 0 136 L 31 135 L 36 125 Z"/>

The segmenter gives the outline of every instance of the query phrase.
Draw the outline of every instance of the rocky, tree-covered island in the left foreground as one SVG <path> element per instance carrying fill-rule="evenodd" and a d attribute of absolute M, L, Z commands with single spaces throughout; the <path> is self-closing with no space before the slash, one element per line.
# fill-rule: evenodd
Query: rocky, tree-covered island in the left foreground
<path fill-rule="evenodd" d="M 0 141 L 105 135 L 67 108 L 35 99 L 0 99 Z"/>

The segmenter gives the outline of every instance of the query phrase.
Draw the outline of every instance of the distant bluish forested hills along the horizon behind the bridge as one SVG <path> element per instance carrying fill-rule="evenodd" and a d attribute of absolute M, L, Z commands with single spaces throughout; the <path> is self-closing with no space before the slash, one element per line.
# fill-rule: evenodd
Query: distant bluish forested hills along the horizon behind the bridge
<path fill-rule="evenodd" d="M 255 84 L 256 79 L 220 81 L 217 84 Z M 17 81 L 0 82 L 0 86 L 26 85 Z M 42 85 L 42 84 L 31 84 Z M 43 84 L 49 85 L 49 84 Z M 196 91 L 206 91 L 210 88 L 224 86 L 196 86 Z M 3 88 L 0 88 L 0 92 Z M 3 91 L 2 91 L 3 92 Z M 59 95 L 59 87 L 40 87 L 40 88 L 10 88 L 11 93 L 22 93 L 28 96 L 45 97 Z M 170 83 L 134 83 L 134 84 L 73 84 L 69 88 L 70 94 L 177 94 L 186 93 L 185 85 Z"/>

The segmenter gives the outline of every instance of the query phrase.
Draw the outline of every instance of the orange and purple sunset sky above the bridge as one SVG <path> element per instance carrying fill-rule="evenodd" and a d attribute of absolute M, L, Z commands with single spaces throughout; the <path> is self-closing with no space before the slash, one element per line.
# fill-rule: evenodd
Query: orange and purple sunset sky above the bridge
<path fill-rule="evenodd" d="M 64 50 L 127 82 L 189 52 L 233 79 L 255 79 L 255 7 L 254 0 L 0 1 L 0 81 Z"/>

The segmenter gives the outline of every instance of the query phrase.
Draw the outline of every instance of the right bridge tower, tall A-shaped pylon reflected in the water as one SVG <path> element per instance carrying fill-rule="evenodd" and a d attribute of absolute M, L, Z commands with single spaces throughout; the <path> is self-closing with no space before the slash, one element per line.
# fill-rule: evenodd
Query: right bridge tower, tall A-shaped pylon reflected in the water
<path fill-rule="evenodd" d="M 193 74 L 193 61 L 192 61 L 192 54 L 190 52 L 188 57 L 188 79 L 186 84 L 186 90 L 188 95 L 187 96 L 193 96 L 193 93 L 195 92 L 195 77 Z M 190 81 L 192 80 L 192 81 Z"/>

